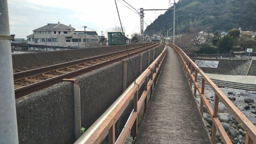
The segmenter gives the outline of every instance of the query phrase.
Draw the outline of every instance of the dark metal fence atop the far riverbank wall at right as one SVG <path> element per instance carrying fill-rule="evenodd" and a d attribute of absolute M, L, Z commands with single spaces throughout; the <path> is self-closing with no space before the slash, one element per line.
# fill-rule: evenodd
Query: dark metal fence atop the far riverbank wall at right
<path fill-rule="evenodd" d="M 228 59 L 228 60 L 237 60 L 237 59 L 252 59 L 252 55 L 246 54 L 237 54 L 237 55 L 224 55 L 224 54 L 188 54 L 191 59 Z"/>

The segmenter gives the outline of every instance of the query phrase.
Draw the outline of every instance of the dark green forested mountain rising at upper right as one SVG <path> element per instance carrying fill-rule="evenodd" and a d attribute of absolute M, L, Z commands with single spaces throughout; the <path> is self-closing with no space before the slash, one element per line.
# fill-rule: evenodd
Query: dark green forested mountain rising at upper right
<path fill-rule="evenodd" d="M 145 12 L 147 17 L 147 12 Z M 178 19 L 178 23 L 177 23 Z M 173 11 L 167 11 L 148 25 L 144 34 L 163 33 L 173 27 Z M 212 31 L 242 28 L 256 31 L 256 0 L 180 0 L 176 4 L 176 34 L 189 27 L 211 27 Z"/>

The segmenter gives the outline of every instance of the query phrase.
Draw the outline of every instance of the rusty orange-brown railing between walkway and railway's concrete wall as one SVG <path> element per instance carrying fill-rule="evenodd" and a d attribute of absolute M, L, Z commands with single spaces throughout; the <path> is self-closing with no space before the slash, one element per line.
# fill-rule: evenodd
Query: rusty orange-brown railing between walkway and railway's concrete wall
<path fill-rule="evenodd" d="M 103 113 L 84 134 L 76 140 L 75 144 L 100 143 L 108 135 L 108 142 L 124 143 L 133 127 L 133 137 L 138 131 L 138 114 L 144 103 L 144 112 L 148 106 L 148 92 L 152 94 L 153 83 L 156 84 L 159 72 L 166 58 L 166 46 L 149 67 L 136 79 L 137 84 L 131 84 L 123 94 Z M 138 100 L 138 90 L 144 84 L 144 91 Z M 134 108 L 122 132 L 115 141 L 115 123 L 133 100 Z"/>

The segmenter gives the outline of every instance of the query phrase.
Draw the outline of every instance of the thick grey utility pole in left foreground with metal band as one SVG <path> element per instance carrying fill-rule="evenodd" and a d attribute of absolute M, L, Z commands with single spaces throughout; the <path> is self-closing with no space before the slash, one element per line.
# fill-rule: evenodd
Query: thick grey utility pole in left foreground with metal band
<path fill-rule="evenodd" d="M 18 144 L 7 0 L 0 0 L 0 143 Z"/>

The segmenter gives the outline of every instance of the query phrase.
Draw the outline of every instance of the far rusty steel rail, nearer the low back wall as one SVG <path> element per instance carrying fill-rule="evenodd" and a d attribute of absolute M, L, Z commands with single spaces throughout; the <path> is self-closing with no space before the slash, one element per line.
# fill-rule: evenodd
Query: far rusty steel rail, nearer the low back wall
<path fill-rule="evenodd" d="M 129 49 L 129 51 L 136 50 L 136 49 L 143 48 L 143 47 L 147 47 L 149 45 L 154 45 L 154 44 L 156 44 L 156 43 L 148 44 L 148 45 L 144 45 L 144 46 L 140 46 L 140 47 L 136 47 L 136 48 L 132 48 L 132 49 Z M 14 81 L 16 81 L 16 80 L 19 80 L 20 78 L 23 78 L 23 77 L 35 76 L 35 75 L 38 75 L 40 73 L 45 73 L 45 72 L 49 72 L 49 71 L 52 71 L 52 70 L 55 70 L 55 69 L 70 67 L 70 66 L 77 65 L 77 64 L 82 64 L 84 62 L 89 62 L 89 61 L 92 61 L 92 60 L 97 60 L 97 59 L 109 57 L 109 56 L 124 53 L 124 52 L 127 52 L 127 50 L 108 53 L 108 54 L 103 54 L 103 55 L 89 57 L 89 58 L 80 59 L 80 60 L 64 62 L 64 63 L 55 64 L 55 65 L 51 65 L 51 66 L 46 66 L 46 67 L 42 67 L 42 68 L 35 68 L 35 69 L 31 69 L 31 70 L 21 71 L 21 72 L 14 73 L 13 74 L 13 79 L 14 79 Z"/>

